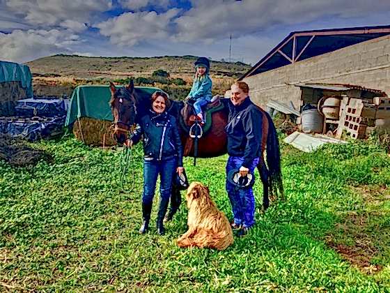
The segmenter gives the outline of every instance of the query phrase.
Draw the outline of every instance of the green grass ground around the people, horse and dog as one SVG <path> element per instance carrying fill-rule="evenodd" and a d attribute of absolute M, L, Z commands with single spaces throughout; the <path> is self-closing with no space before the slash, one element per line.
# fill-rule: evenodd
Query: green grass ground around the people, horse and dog
<path fill-rule="evenodd" d="M 16 169 L 0 161 L 0 291 L 390 292 L 390 159 L 374 144 L 311 154 L 283 145 L 287 200 L 260 213 L 258 180 L 256 226 L 223 252 L 176 246 L 187 228 L 184 204 L 158 236 L 158 193 L 152 231 L 138 234 L 139 147 L 136 189 L 125 194 L 120 152 L 72 138 L 34 145 L 55 163 Z M 185 167 L 231 218 L 226 159 L 193 167 L 186 158 Z"/>

